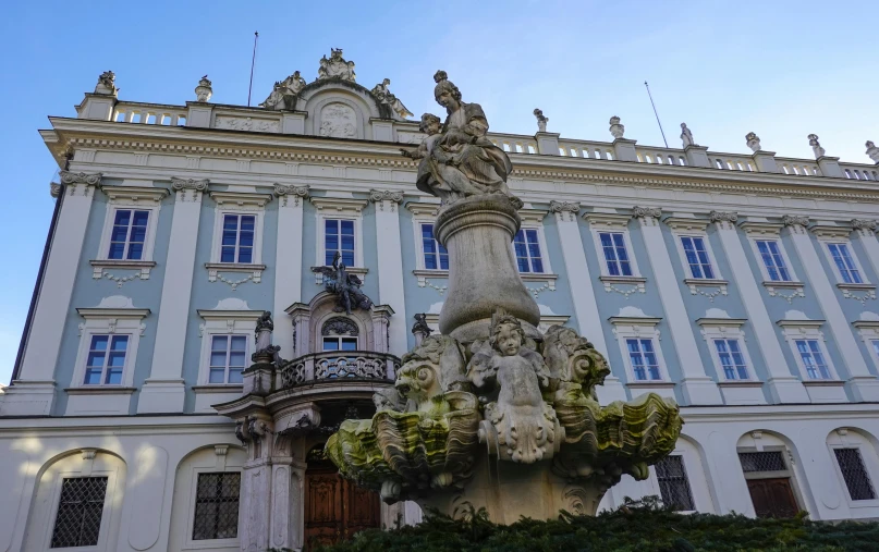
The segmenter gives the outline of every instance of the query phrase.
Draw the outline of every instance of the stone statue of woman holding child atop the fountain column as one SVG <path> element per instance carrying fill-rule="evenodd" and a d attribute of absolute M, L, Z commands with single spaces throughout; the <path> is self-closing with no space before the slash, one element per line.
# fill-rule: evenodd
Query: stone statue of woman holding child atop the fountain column
<path fill-rule="evenodd" d="M 445 108 L 448 116 L 441 130 L 428 127 L 424 148 L 403 151 L 406 157 L 422 159 L 415 185 L 439 197 L 443 204 L 486 194 L 509 196 L 506 176 L 513 164 L 506 154 L 486 137 L 488 120 L 481 106 L 462 101 L 461 90 L 448 79 L 444 71 L 437 71 L 434 81 L 437 83 L 434 98 Z M 423 124 L 427 116 L 422 115 Z"/>

